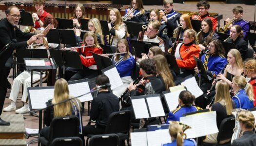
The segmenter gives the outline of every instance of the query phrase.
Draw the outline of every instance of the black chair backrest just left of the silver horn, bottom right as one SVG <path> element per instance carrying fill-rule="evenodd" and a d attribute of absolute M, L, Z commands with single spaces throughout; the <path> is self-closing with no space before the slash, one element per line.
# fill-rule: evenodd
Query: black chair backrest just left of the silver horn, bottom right
<path fill-rule="evenodd" d="M 233 134 L 233 129 L 235 128 L 235 120 L 234 116 L 225 118 L 222 120 L 218 130 L 217 141 L 220 142 L 221 140 L 231 139 Z"/>

